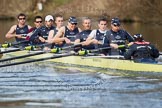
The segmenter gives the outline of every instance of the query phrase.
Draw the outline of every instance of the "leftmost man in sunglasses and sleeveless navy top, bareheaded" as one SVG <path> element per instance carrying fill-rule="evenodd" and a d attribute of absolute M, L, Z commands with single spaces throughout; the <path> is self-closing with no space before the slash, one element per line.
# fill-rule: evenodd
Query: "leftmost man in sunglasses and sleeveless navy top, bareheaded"
<path fill-rule="evenodd" d="M 26 25 L 26 15 L 24 13 L 20 13 L 17 16 L 17 25 L 13 25 L 10 30 L 6 34 L 6 38 L 10 39 L 15 37 L 16 42 L 21 42 L 26 39 L 26 36 L 29 32 L 29 29 L 31 29 L 30 25 Z M 27 43 L 23 44 L 24 46 L 27 45 Z"/>

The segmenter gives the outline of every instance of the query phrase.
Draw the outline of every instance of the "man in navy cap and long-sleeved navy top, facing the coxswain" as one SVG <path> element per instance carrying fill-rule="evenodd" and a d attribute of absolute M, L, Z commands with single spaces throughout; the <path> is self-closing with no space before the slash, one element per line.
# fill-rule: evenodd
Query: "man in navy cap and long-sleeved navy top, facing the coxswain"
<path fill-rule="evenodd" d="M 133 37 L 121 28 L 120 20 L 116 17 L 111 19 L 111 29 L 107 31 L 106 38 L 112 47 L 110 55 L 123 55 L 125 48 L 119 49 L 119 46 L 134 41 Z"/>

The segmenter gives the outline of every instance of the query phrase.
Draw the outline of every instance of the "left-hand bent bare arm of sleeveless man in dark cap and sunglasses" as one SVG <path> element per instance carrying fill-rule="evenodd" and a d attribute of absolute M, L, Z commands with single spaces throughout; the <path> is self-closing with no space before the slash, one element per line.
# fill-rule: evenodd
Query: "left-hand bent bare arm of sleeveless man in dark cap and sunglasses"
<path fill-rule="evenodd" d="M 53 43 L 60 43 L 60 42 L 63 42 L 65 41 L 65 38 L 64 38 L 64 33 L 65 33 L 65 27 L 61 27 L 59 29 L 59 31 L 57 32 L 57 34 L 54 36 L 54 38 L 52 39 L 52 42 Z"/>

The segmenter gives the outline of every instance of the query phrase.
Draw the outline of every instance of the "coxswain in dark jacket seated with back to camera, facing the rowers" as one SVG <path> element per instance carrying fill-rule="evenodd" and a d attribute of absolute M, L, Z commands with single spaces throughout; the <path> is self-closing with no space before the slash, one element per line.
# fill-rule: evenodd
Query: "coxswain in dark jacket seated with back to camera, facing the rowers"
<path fill-rule="evenodd" d="M 133 36 L 135 42 L 124 53 L 125 59 L 133 59 L 135 62 L 157 63 L 159 51 L 150 42 L 146 42 L 141 34 Z"/>

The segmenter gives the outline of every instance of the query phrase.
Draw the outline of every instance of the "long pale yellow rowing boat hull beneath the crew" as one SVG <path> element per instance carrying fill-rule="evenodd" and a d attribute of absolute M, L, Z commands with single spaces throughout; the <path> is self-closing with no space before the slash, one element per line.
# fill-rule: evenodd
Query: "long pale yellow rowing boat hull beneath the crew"
<path fill-rule="evenodd" d="M 18 55 L 29 54 L 29 51 L 16 51 L 3 54 L 1 59 L 8 57 L 16 57 Z M 26 59 L 37 60 L 39 58 L 50 57 L 52 53 L 44 53 L 41 55 L 35 55 L 26 57 Z M 122 71 L 133 71 L 133 72 L 162 72 L 161 64 L 144 64 L 135 63 L 132 60 L 124 60 L 122 56 L 75 56 L 70 55 L 66 57 L 60 57 L 57 59 L 48 59 L 48 62 L 61 64 L 62 66 L 81 66 L 81 67 L 94 67 L 102 69 L 113 69 Z"/>

